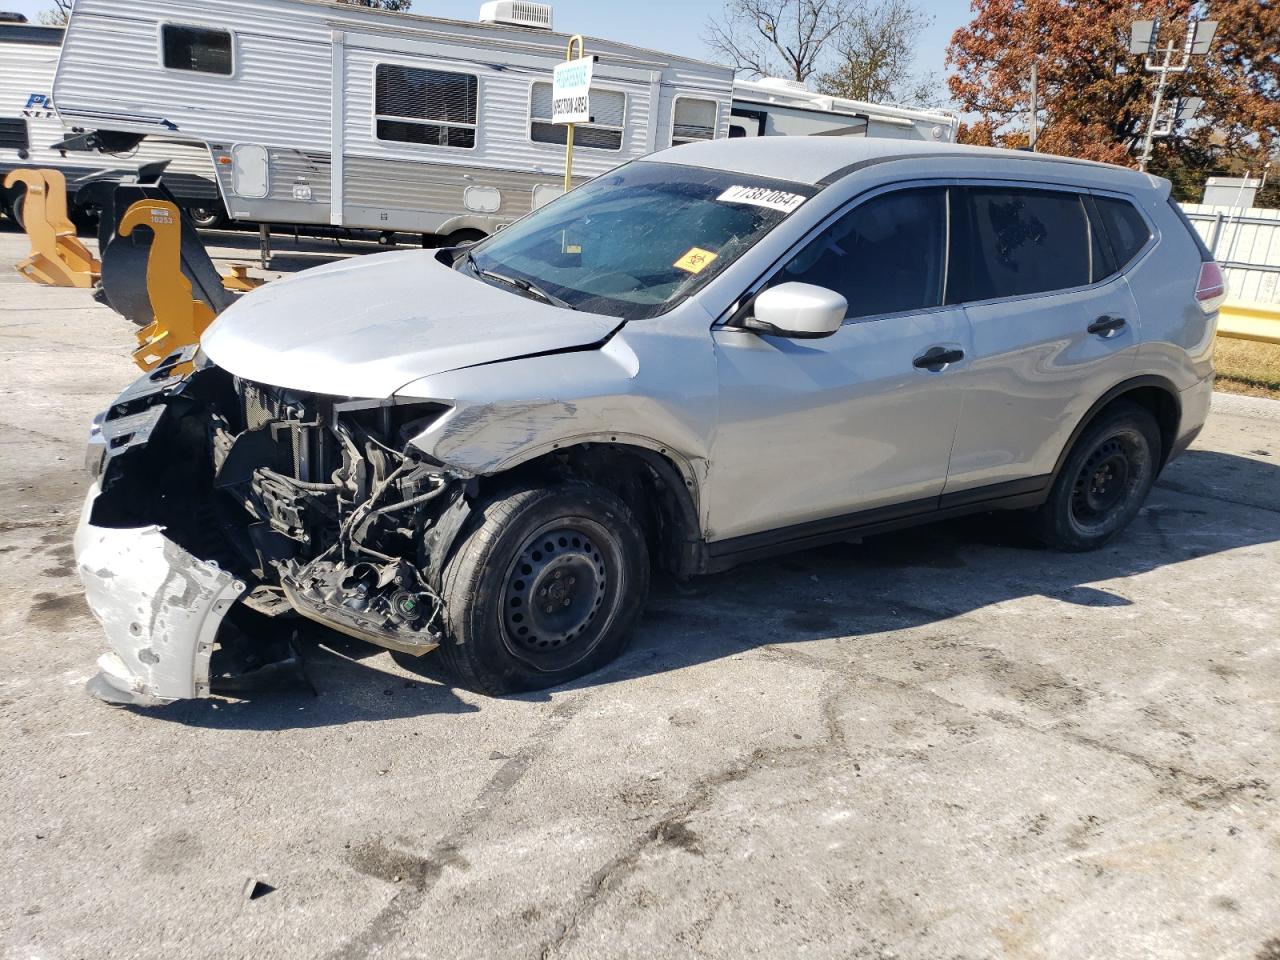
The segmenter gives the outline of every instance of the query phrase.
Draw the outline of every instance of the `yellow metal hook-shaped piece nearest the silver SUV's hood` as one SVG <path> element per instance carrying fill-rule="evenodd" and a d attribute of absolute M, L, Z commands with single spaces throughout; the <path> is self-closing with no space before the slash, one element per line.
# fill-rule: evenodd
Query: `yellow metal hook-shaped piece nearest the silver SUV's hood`
<path fill-rule="evenodd" d="M 138 227 L 150 228 L 151 252 L 147 256 L 147 297 L 155 321 L 138 332 L 133 360 L 143 370 L 155 370 L 161 361 L 183 347 L 200 342 L 214 321 L 207 303 L 192 296 L 191 280 L 182 271 L 182 214 L 169 201 L 140 200 L 120 220 L 119 233 L 128 237 Z M 175 374 L 188 372 L 175 367 Z"/>

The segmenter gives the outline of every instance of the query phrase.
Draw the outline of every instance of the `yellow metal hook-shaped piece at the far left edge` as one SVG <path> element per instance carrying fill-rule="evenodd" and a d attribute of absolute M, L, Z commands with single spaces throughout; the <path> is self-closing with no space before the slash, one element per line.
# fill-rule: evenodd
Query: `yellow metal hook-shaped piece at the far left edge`
<path fill-rule="evenodd" d="M 13 170 L 5 189 L 26 186 L 22 219 L 31 255 L 18 264 L 18 273 L 46 287 L 92 287 L 102 265 L 76 236 L 67 216 L 67 178 L 59 170 Z"/>

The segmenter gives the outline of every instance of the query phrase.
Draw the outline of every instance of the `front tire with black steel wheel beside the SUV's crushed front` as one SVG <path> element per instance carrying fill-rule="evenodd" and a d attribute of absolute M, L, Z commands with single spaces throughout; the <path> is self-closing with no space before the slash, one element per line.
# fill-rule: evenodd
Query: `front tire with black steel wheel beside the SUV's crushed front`
<path fill-rule="evenodd" d="M 442 580 L 451 636 L 434 655 L 451 677 L 489 695 L 544 690 L 622 653 L 649 593 L 649 550 L 611 492 L 521 486 L 476 509 Z"/>

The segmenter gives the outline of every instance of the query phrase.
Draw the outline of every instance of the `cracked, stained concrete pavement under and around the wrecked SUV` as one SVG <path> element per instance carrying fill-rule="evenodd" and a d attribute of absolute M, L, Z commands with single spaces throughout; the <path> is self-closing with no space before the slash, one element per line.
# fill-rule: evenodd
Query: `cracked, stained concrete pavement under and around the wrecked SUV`
<path fill-rule="evenodd" d="M 319 696 L 116 710 L 67 573 L 132 329 L 17 251 L 0 955 L 1280 959 L 1280 403 L 1097 554 L 977 518 L 659 585 L 547 695 L 311 632 Z"/>

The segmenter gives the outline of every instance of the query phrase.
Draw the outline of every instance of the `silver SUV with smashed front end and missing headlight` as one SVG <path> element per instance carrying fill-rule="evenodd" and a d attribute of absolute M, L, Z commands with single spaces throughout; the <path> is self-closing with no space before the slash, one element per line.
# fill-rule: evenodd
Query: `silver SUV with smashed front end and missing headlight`
<path fill-rule="evenodd" d="M 216 692 L 301 616 L 502 694 L 617 657 L 653 567 L 978 511 L 1098 548 L 1210 406 L 1222 278 L 1169 189 L 721 141 L 273 283 L 97 424 L 91 689 Z"/>

